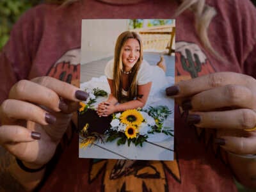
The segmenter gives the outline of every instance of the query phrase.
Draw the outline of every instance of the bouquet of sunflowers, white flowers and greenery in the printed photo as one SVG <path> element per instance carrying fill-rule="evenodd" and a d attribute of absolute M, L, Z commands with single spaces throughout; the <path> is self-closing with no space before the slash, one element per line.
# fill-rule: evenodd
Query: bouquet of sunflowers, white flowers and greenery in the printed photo
<path fill-rule="evenodd" d="M 110 123 L 111 127 L 106 131 L 106 142 L 116 141 L 117 145 L 142 147 L 143 142 L 147 141 L 148 134 L 154 132 L 164 132 L 172 135 L 170 131 L 163 130 L 164 120 L 172 113 L 166 106 L 150 107 L 148 110 L 128 109 L 122 113 L 113 115 Z"/>

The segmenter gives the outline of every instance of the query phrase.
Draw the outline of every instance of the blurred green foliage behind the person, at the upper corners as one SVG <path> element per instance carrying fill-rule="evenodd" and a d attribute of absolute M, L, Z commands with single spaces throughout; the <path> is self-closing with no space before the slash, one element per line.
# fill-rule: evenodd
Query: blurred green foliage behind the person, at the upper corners
<path fill-rule="evenodd" d="M 256 0 L 251 1 L 256 5 Z M 8 41 L 12 26 L 20 15 L 43 2 L 44 0 L 0 0 L 0 51 Z"/>

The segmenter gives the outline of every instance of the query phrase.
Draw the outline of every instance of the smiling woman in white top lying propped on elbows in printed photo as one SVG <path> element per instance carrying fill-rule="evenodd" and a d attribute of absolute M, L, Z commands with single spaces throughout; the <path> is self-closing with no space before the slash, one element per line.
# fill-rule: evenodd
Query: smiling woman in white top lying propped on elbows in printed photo
<path fill-rule="evenodd" d="M 127 109 L 143 108 L 152 81 L 156 84 L 156 81 L 166 80 L 165 70 L 163 58 L 156 66 L 150 66 L 143 60 L 142 41 L 136 32 L 123 32 L 116 40 L 115 58 L 105 68 L 111 93 L 108 100 L 99 104 L 97 113 L 108 116 Z"/>

